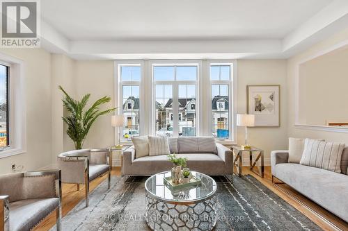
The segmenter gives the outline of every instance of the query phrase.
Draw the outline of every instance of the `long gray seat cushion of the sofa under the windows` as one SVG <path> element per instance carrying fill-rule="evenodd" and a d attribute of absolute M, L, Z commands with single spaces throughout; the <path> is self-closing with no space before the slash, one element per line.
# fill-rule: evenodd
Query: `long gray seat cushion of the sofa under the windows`
<path fill-rule="evenodd" d="M 232 164 L 224 162 L 219 155 L 213 153 L 185 153 L 177 157 L 187 158 L 187 167 L 192 171 L 199 171 L 208 175 L 225 175 L 232 172 Z M 132 175 L 152 175 L 162 171 L 169 171 L 173 164 L 166 155 L 146 156 L 132 162 Z"/>

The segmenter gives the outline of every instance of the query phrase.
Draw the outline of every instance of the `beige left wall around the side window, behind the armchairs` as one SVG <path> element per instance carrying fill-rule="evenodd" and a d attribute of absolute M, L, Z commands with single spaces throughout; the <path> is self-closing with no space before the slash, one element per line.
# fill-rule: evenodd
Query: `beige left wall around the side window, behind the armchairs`
<path fill-rule="evenodd" d="M 0 158 L 0 174 L 39 169 L 52 162 L 51 54 L 42 49 L 0 49 L 1 53 L 24 61 L 26 99 L 26 153 Z"/>

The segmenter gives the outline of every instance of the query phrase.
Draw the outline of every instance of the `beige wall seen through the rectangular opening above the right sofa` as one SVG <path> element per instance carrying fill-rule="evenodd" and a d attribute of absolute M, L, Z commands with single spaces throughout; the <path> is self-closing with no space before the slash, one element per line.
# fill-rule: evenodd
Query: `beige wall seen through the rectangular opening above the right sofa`
<path fill-rule="evenodd" d="M 342 48 L 300 65 L 302 123 L 326 126 L 348 122 L 348 48 Z M 329 90 L 329 91 L 328 91 Z"/>

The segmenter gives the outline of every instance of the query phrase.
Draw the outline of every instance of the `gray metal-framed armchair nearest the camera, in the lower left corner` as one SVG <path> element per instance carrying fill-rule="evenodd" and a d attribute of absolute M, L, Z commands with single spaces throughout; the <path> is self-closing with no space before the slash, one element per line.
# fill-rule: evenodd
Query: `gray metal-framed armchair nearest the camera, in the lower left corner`
<path fill-rule="evenodd" d="M 56 210 L 61 230 L 61 171 L 30 171 L 0 176 L 0 230 L 31 230 Z"/>

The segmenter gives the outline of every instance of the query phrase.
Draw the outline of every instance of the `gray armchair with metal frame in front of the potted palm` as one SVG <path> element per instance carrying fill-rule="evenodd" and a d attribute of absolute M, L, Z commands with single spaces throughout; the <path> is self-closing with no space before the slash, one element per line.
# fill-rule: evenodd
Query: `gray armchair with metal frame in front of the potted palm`
<path fill-rule="evenodd" d="M 58 155 L 58 168 L 62 171 L 62 182 L 85 185 L 86 207 L 88 207 L 89 183 L 108 173 L 110 189 L 112 155 L 109 149 L 81 149 Z"/>

